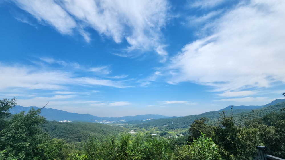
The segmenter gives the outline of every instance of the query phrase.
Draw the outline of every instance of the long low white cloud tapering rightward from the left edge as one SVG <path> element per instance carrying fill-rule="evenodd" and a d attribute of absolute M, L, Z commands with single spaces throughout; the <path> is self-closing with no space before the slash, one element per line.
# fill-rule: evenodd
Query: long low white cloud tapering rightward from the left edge
<path fill-rule="evenodd" d="M 120 81 L 99 79 L 95 77 L 78 77 L 64 70 L 42 69 L 36 66 L 7 66 L 0 64 L 0 89 L 25 88 L 62 90 L 69 86 L 110 86 L 125 88 Z"/>

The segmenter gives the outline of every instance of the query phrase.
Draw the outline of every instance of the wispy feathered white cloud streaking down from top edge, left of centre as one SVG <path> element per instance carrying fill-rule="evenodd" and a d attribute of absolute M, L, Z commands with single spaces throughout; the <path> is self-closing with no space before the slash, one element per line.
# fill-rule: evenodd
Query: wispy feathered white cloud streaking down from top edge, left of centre
<path fill-rule="evenodd" d="M 13 0 L 21 9 L 38 21 L 46 22 L 62 34 L 77 30 L 84 39 L 91 40 L 86 29 L 112 38 L 116 43 L 127 40 L 128 51 L 155 50 L 165 61 L 162 45 L 163 28 L 170 9 L 166 0 Z"/>

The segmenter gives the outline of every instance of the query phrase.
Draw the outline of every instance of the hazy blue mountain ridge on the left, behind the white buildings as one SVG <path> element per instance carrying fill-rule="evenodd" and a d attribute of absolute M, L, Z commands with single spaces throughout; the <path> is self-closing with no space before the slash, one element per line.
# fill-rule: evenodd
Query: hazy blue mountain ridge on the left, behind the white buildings
<path fill-rule="evenodd" d="M 25 111 L 27 113 L 33 106 L 30 107 L 23 107 L 20 105 L 15 106 L 14 108 L 10 109 L 10 113 L 20 113 L 22 111 Z M 38 107 L 33 107 L 34 109 L 39 109 Z M 160 118 L 168 118 L 168 116 L 163 115 L 136 115 L 136 116 L 125 116 L 125 117 L 97 117 L 90 114 L 78 114 L 78 113 L 70 113 L 58 109 L 52 109 L 52 108 L 43 108 L 41 113 L 41 116 L 45 117 L 46 120 L 55 120 L 55 121 L 61 121 L 61 120 L 70 120 L 70 121 L 84 121 L 84 122 L 96 122 L 96 121 L 130 121 L 130 120 L 146 120 L 146 119 L 160 119 Z"/>

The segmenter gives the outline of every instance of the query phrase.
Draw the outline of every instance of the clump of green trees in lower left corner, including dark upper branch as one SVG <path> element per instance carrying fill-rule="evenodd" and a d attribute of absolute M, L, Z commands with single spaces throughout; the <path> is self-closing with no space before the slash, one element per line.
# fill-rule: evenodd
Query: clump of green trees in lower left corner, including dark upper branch
<path fill-rule="evenodd" d="M 15 99 L 1 101 L 2 116 L 7 116 Z M 51 137 L 39 127 L 45 122 L 40 116 L 41 109 L 30 109 L 27 114 L 20 112 L 11 120 L 3 120 L 0 131 L 0 157 L 3 159 L 64 159 L 62 149 L 65 142 Z"/>

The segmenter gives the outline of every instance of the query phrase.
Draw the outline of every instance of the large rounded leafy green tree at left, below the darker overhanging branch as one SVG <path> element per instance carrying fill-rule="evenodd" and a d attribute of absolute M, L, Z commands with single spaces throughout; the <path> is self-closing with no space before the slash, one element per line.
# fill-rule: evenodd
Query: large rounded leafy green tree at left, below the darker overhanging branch
<path fill-rule="evenodd" d="M 13 115 L 7 126 L 0 132 L 1 149 L 5 148 L 9 157 L 18 159 L 32 159 L 40 141 L 41 129 L 39 124 L 44 123 L 44 117 L 39 115 L 40 110 L 31 109 L 26 115 L 24 112 Z"/>

